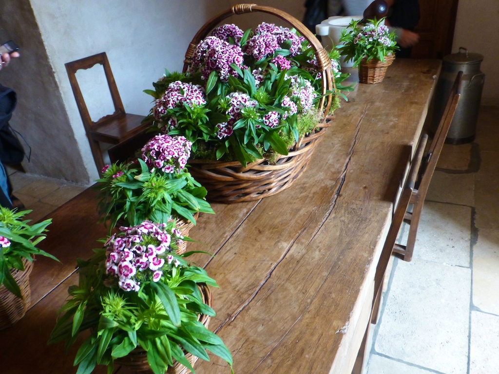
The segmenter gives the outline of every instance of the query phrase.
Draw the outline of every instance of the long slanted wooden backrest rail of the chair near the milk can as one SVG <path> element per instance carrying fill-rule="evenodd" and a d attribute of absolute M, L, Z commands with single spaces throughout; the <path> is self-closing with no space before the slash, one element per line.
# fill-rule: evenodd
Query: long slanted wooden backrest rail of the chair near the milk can
<path fill-rule="evenodd" d="M 451 127 L 452 120 L 454 118 L 454 114 L 456 113 L 456 108 L 461 97 L 462 83 L 463 72 L 460 71 L 457 74 L 456 79 L 454 80 L 454 85 L 447 100 L 444 113 L 442 115 L 442 118 L 440 119 L 433 140 L 421 165 L 420 176 L 416 185 L 417 189 L 427 189 L 430 186 L 433 172 L 437 167 L 440 153 L 442 152 L 442 148 L 444 147 L 445 138 L 447 137 L 447 133 L 449 132 L 449 129 Z"/>

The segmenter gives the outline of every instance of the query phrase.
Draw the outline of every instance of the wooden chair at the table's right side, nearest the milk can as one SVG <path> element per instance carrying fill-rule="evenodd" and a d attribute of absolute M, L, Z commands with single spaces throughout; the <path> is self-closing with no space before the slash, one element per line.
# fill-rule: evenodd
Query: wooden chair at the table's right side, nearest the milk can
<path fill-rule="evenodd" d="M 458 106 L 459 98 L 461 96 L 462 81 L 463 72 L 460 71 L 454 81 L 454 86 L 451 90 L 451 94 L 449 95 L 447 105 L 438 125 L 437 131 L 435 132 L 435 136 L 432 139 L 428 151 L 423 156 L 419 176 L 410 201 L 413 209 L 412 212 L 407 211 L 404 217 L 405 221 L 410 224 L 407 243 L 406 245 L 395 244 L 393 248 L 393 251 L 400 255 L 404 261 L 411 261 L 412 259 L 419 219 L 421 217 L 421 211 L 423 210 L 426 192 L 430 186 L 433 172 L 437 166 L 440 153 L 442 152 L 442 147 L 444 146 L 445 138 L 447 137 L 452 119 L 454 118 L 454 114 L 456 112 L 456 107 Z"/>

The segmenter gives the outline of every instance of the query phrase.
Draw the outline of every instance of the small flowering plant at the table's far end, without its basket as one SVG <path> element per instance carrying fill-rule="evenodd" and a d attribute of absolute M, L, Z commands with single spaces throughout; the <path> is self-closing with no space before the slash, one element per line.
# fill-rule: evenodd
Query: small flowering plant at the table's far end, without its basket
<path fill-rule="evenodd" d="M 352 20 L 339 39 L 343 45 L 338 50 L 346 61 L 353 60 L 353 66 L 358 66 L 363 58 L 385 62 L 386 56 L 399 49 L 395 41 L 397 36 L 384 25 L 384 19 L 370 19 L 366 24 Z"/>

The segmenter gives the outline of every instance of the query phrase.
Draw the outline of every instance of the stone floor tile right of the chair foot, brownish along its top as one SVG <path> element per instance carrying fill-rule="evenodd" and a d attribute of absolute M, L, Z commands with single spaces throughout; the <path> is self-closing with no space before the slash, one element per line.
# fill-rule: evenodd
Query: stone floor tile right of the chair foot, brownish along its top
<path fill-rule="evenodd" d="M 413 258 L 469 267 L 471 214 L 469 206 L 425 201 Z M 409 225 L 404 223 L 401 243 L 408 233 Z"/>

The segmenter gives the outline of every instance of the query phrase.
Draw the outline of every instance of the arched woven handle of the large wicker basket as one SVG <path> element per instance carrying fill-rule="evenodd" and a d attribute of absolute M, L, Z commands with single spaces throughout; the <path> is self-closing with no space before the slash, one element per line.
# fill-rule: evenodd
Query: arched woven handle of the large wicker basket
<path fill-rule="evenodd" d="M 313 47 L 315 51 L 315 56 L 317 57 L 317 65 L 318 70 L 322 72 L 322 95 L 324 95 L 327 91 L 335 91 L 334 78 L 331 72 L 331 60 L 327 51 L 324 49 L 320 41 L 315 37 L 315 35 L 298 19 L 293 17 L 291 14 L 286 13 L 285 11 L 273 8 L 271 6 L 263 6 L 256 4 L 237 4 L 232 8 L 225 10 L 224 12 L 216 15 L 208 22 L 206 22 L 196 33 L 194 38 L 192 39 L 189 47 L 187 48 L 186 57 L 184 60 L 184 72 L 187 71 L 187 68 L 192 62 L 192 57 L 194 52 L 196 51 L 196 47 L 199 42 L 204 39 L 208 33 L 215 28 L 222 20 L 234 15 L 234 14 L 245 14 L 252 12 L 263 12 L 273 14 L 286 22 L 292 25 L 301 35 L 307 39 L 310 45 Z M 325 98 L 327 97 L 327 105 L 324 109 Z M 326 97 L 322 97 L 320 101 L 319 110 L 323 111 L 326 115 L 329 112 L 329 108 L 331 106 L 332 95 L 328 95 Z"/>

